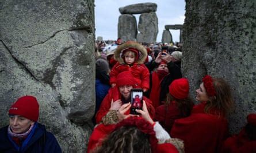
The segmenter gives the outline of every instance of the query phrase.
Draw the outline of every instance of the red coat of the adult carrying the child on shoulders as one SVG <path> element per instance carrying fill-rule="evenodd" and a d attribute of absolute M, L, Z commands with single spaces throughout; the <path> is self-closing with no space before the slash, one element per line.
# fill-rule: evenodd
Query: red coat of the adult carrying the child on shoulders
<path fill-rule="evenodd" d="M 96 119 L 97 124 L 100 123 L 100 121 L 102 120 L 102 117 L 104 117 L 106 115 L 106 113 L 108 113 L 109 108 L 111 107 L 111 100 L 112 99 L 113 99 L 113 101 L 121 99 L 121 94 L 120 94 L 119 89 L 117 87 L 110 88 L 109 93 L 103 99 L 103 101 L 101 103 L 101 107 L 95 115 L 95 119 Z M 145 100 L 145 102 L 146 102 L 148 113 L 150 113 L 150 116 L 152 117 L 152 119 L 154 119 L 155 109 L 152 106 L 152 101 L 150 99 L 147 99 L 144 96 L 143 96 L 143 100 Z M 128 115 L 129 113 L 130 112 L 128 110 L 125 114 Z"/>

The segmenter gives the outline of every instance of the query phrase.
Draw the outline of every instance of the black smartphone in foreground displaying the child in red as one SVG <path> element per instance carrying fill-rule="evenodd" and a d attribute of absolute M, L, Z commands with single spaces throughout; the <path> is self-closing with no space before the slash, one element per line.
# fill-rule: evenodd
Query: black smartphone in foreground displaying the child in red
<path fill-rule="evenodd" d="M 131 114 L 140 115 L 140 113 L 136 112 L 135 109 L 141 109 L 143 106 L 143 90 L 142 89 L 132 89 L 131 90 Z"/>

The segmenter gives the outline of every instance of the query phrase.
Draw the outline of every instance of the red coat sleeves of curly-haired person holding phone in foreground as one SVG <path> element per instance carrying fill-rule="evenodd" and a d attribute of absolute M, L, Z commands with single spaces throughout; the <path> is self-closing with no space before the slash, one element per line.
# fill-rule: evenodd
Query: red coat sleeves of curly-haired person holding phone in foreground
<path fill-rule="evenodd" d="M 89 143 L 87 146 L 87 153 L 94 150 L 96 146 L 100 146 L 102 143 L 102 140 L 104 140 L 104 138 L 107 135 L 109 135 L 114 130 L 114 128 L 115 128 L 115 124 L 112 124 L 112 125 L 99 124 L 97 127 L 95 127 L 89 139 Z M 171 143 L 163 143 L 163 144 L 158 144 L 158 146 L 156 147 L 156 152 L 178 153 L 178 150 Z"/>

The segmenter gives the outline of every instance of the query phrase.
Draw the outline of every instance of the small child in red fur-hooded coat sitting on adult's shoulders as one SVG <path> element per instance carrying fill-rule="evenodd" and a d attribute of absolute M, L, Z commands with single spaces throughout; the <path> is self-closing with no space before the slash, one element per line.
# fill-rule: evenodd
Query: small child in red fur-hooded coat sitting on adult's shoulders
<path fill-rule="evenodd" d="M 120 45 L 114 53 L 118 61 L 110 72 L 110 84 L 116 86 L 116 77 L 119 73 L 129 71 L 135 78 L 139 88 L 146 92 L 150 88 L 150 73 L 143 64 L 147 58 L 147 50 L 137 42 L 128 41 Z"/>

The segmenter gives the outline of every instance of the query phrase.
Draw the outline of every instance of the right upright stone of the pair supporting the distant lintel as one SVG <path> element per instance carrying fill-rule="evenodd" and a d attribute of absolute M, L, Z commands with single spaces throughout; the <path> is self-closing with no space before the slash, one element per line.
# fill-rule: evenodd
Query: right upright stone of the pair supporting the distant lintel
<path fill-rule="evenodd" d="M 158 18 L 156 13 L 143 13 L 139 18 L 137 41 L 154 43 L 158 34 Z"/>

